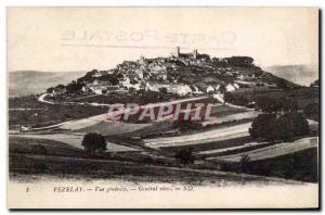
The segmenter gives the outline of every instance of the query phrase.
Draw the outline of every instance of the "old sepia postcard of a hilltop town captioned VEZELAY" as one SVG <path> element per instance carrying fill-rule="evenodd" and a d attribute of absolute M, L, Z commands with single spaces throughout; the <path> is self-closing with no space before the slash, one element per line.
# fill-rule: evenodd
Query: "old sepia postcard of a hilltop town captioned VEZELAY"
<path fill-rule="evenodd" d="M 318 9 L 6 16 L 9 208 L 318 207 Z"/>

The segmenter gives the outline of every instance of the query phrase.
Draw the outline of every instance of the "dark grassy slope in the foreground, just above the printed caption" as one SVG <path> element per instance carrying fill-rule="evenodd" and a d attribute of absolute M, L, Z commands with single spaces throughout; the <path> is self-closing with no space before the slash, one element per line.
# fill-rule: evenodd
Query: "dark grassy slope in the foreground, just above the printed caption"
<path fill-rule="evenodd" d="M 35 140 L 26 138 L 10 138 L 9 172 L 11 179 L 27 180 L 30 178 L 53 177 L 60 179 L 78 178 L 86 180 L 123 179 L 138 182 L 171 182 L 180 181 L 190 185 L 243 185 L 258 182 L 260 185 L 297 185 L 299 182 L 234 174 L 216 169 L 181 168 L 165 161 L 165 166 L 157 165 L 146 155 L 139 153 L 134 160 L 132 153 L 108 153 L 90 155 L 87 152 L 53 140 Z M 146 157 L 146 159 L 145 159 Z"/>

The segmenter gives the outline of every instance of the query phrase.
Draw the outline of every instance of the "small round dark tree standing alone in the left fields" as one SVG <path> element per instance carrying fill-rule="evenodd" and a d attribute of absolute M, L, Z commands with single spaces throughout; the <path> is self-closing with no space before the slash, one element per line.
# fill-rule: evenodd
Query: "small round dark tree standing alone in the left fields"
<path fill-rule="evenodd" d="M 107 143 L 104 136 L 96 132 L 89 132 L 84 135 L 81 146 L 90 153 L 104 152 Z"/>

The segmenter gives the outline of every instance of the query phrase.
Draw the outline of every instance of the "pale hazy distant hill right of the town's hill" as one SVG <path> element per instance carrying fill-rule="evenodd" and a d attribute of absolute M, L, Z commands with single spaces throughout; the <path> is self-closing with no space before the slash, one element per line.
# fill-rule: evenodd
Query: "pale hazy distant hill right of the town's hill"
<path fill-rule="evenodd" d="M 317 68 L 312 65 L 274 65 L 266 67 L 265 71 L 303 86 L 310 86 L 311 83 L 318 79 Z"/>

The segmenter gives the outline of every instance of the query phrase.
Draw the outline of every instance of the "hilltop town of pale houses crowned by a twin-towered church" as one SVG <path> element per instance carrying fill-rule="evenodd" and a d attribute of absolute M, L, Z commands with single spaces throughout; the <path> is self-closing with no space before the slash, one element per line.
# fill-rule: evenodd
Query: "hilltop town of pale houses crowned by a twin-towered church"
<path fill-rule="evenodd" d="M 297 85 L 263 72 L 249 56 L 210 58 L 182 53 L 177 47 L 167 58 L 125 61 L 107 71 L 93 69 L 67 86 L 48 89 L 52 97 L 66 92 L 107 94 L 161 91 L 177 96 L 219 93 L 239 88 L 294 88 Z"/>

